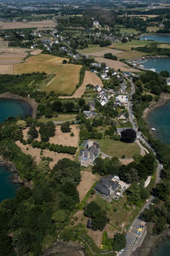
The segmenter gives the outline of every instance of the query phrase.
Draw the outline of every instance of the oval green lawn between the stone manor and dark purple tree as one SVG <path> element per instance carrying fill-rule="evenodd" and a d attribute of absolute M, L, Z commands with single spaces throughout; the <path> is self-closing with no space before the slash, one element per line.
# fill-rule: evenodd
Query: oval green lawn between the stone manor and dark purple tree
<path fill-rule="evenodd" d="M 140 154 L 140 149 L 137 143 L 122 143 L 111 139 L 96 140 L 99 143 L 101 151 L 111 156 L 122 158 L 132 158 L 134 154 Z"/>

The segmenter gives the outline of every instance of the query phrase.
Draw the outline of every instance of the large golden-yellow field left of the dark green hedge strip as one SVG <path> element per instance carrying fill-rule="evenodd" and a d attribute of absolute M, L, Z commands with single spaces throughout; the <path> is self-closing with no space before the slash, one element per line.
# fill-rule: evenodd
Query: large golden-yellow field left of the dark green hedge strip
<path fill-rule="evenodd" d="M 79 82 L 81 65 L 62 64 L 64 58 L 52 55 L 36 55 L 26 59 L 26 62 L 14 65 L 14 74 L 45 72 L 54 74 L 47 84 L 42 84 L 40 90 L 71 95 Z"/>

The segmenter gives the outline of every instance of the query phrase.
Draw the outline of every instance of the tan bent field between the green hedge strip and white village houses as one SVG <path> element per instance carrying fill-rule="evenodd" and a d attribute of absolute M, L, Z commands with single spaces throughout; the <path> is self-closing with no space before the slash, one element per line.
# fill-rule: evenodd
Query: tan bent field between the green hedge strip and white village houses
<path fill-rule="evenodd" d="M 60 99 L 71 99 L 71 98 L 81 98 L 86 90 L 87 84 L 99 84 L 100 86 L 104 86 L 101 79 L 97 76 L 97 74 L 92 73 L 90 71 L 85 72 L 85 76 L 82 82 L 82 85 L 75 91 L 75 93 L 72 96 L 59 96 Z"/>

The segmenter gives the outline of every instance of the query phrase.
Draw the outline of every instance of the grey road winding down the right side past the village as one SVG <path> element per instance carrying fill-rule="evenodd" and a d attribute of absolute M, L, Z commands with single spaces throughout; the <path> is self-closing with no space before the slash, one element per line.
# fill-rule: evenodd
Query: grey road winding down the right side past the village
<path fill-rule="evenodd" d="M 133 125 L 133 130 L 136 131 L 137 133 L 137 137 L 139 138 L 139 140 L 144 143 L 144 145 L 147 148 L 150 148 L 153 152 L 153 154 L 156 155 L 156 152 L 153 148 L 151 148 L 150 144 L 145 140 L 145 138 L 142 136 L 141 132 L 138 131 L 138 127 L 135 123 L 135 120 L 133 118 L 133 110 L 132 110 L 132 96 L 133 93 L 135 92 L 135 86 L 133 84 L 133 82 L 128 79 L 129 82 L 131 83 L 131 94 L 130 94 L 130 99 L 129 99 L 129 104 L 127 106 L 127 110 L 128 110 L 128 114 L 129 114 L 129 121 L 132 123 Z M 160 183 L 161 182 L 161 163 L 159 162 L 159 160 L 156 160 L 157 162 L 157 168 L 156 168 L 156 183 Z M 150 198 L 148 199 L 148 201 L 145 203 L 144 207 L 141 209 L 140 213 L 144 212 L 144 209 L 149 208 L 151 202 L 153 201 L 154 196 L 150 196 Z M 124 248 L 123 252 L 120 254 L 121 256 L 130 256 L 131 253 L 133 252 L 133 247 L 135 244 L 135 241 L 137 239 L 137 230 L 139 227 L 139 224 L 141 224 L 141 219 L 139 219 L 139 215 L 133 220 L 133 224 L 131 224 L 130 229 L 127 232 L 127 246 Z"/>

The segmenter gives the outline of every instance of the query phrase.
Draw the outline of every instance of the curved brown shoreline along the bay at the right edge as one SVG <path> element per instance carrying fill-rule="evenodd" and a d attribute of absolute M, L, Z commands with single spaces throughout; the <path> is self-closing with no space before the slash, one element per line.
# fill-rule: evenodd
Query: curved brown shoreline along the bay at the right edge
<path fill-rule="evenodd" d="M 170 94 L 167 94 L 167 93 L 166 94 L 165 93 L 161 94 L 161 97 L 160 97 L 158 102 L 150 102 L 149 108 L 144 109 L 144 113 L 142 115 L 142 118 L 146 121 L 152 110 L 154 110 L 156 108 L 159 108 L 163 105 L 166 105 L 167 102 L 169 102 L 169 101 L 170 101 Z"/>

